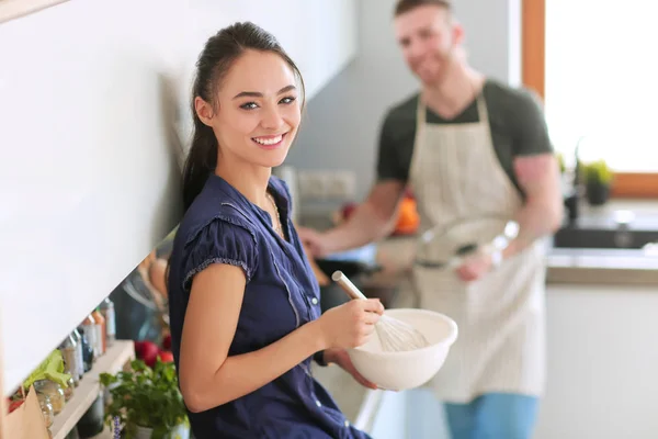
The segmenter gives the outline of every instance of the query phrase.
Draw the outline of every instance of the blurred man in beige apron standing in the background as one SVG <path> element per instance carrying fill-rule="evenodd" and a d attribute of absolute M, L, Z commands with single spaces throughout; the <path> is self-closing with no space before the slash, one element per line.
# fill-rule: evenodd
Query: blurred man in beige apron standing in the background
<path fill-rule="evenodd" d="M 467 64 L 464 31 L 449 1 L 399 1 L 395 32 L 421 90 L 385 117 L 378 179 L 367 200 L 345 224 L 300 235 L 316 257 L 386 237 L 407 185 L 421 232 L 491 216 L 515 221 L 519 233 L 504 249 L 477 251 L 455 271 L 417 266 L 415 278 L 421 306 L 460 326 L 432 383 L 453 439 L 527 439 L 544 389 L 540 238 L 563 218 L 543 112 L 529 91 Z"/>

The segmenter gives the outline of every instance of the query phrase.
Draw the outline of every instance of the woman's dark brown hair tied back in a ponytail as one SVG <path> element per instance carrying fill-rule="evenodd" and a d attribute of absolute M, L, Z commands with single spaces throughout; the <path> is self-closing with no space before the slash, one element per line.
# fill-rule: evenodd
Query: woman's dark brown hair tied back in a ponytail
<path fill-rule="evenodd" d="M 283 50 L 276 38 L 253 23 L 235 23 L 213 35 L 196 61 L 196 78 L 192 89 L 192 116 L 194 134 L 192 145 L 183 168 L 183 205 L 190 209 L 194 199 L 201 193 L 207 178 L 217 166 L 218 145 L 213 128 L 205 125 L 196 114 L 194 99 L 200 97 L 213 106 L 222 80 L 232 64 L 245 50 L 271 52 L 281 56 L 293 69 L 304 95 L 302 74 Z"/>

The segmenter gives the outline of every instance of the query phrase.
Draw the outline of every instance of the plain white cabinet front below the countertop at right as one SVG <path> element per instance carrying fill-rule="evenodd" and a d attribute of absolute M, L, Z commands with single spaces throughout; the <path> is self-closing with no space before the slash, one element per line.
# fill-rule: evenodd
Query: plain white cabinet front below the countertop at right
<path fill-rule="evenodd" d="M 658 437 L 658 285 L 548 285 L 535 439 Z"/>

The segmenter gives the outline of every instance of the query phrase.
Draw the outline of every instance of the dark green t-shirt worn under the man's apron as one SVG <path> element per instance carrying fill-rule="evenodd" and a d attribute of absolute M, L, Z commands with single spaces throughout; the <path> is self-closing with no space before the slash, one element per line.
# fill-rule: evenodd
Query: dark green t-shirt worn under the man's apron
<path fill-rule="evenodd" d="M 514 89 L 491 79 L 485 82 L 483 93 L 489 113 L 494 149 L 502 169 L 521 192 L 512 169 L 514 157 L 553 153 L 541 101 L 527 89 Z M 393 179 L 406 183 L 409 180 L 418 99 L 419 93 L 416 93 L 386 114 L 379 134 L 379 181 Z M 474 100 L 452 120 L 444 120 L 429 109 L 426 117 L 428 124 L 478 122 L 477 101 Z"/>

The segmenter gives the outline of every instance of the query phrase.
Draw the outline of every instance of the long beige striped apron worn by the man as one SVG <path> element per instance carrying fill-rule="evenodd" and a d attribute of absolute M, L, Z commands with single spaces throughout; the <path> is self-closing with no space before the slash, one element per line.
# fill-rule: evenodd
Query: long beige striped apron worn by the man
<path fill-rule="evenodd" d="M 479 122 L 427 124 L 419 97 L 410 183 L 420 232 L 479 216 L 513 218 L 522 199 L 494 150 L 481 92 Z M 438 243 L 440 245 L 440 243 Z M 475 282 L 454 270 L 415 266 L 420 306 L 458 325 L 460 337 L 428 383 L 438 398 L 466 403 L 483 393 L 540 396 L 544 390 L 544 281 L 540 243 Z"/>

